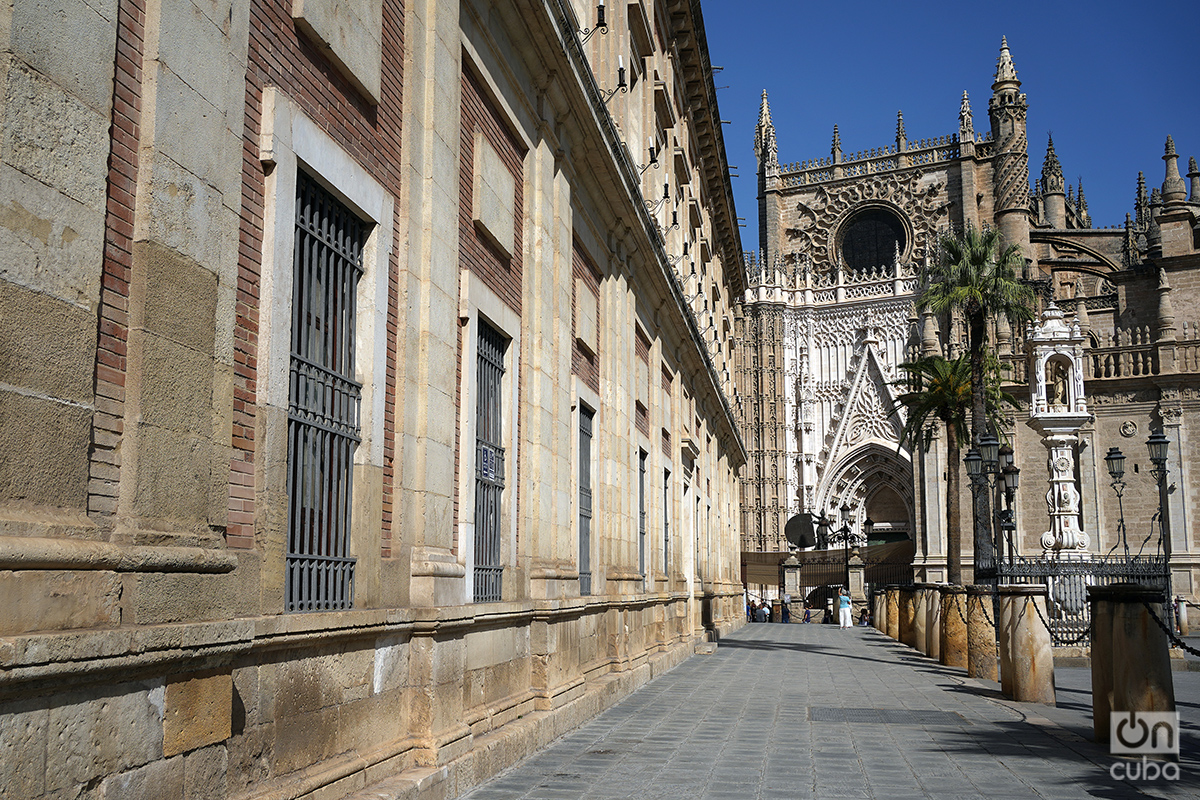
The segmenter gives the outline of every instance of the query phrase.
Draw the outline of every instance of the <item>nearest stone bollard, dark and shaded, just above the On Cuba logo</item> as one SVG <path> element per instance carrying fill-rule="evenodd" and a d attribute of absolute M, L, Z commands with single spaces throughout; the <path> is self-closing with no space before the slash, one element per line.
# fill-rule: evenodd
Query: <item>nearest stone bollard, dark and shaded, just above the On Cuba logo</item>
<path fill-rule="evenodd" d="M 1163 593 L 1136 583 L 1088 587 L 1092 606 L 1092 724 L 1109 741 L 1112 714 L 1174 711 L 1170 640 L 1150 616 L 1163 616 Z"/>

